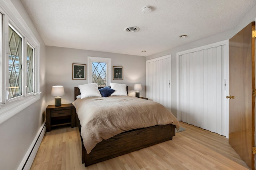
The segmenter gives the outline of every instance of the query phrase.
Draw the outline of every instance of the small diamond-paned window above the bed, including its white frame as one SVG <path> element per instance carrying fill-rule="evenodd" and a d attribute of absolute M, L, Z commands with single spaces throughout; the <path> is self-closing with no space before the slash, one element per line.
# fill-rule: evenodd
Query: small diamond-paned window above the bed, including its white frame
<path fill-rule="evenodd" d="M 88 83 L 109 86 L 111 81 L 111 58 L 88 56 Z"/>

